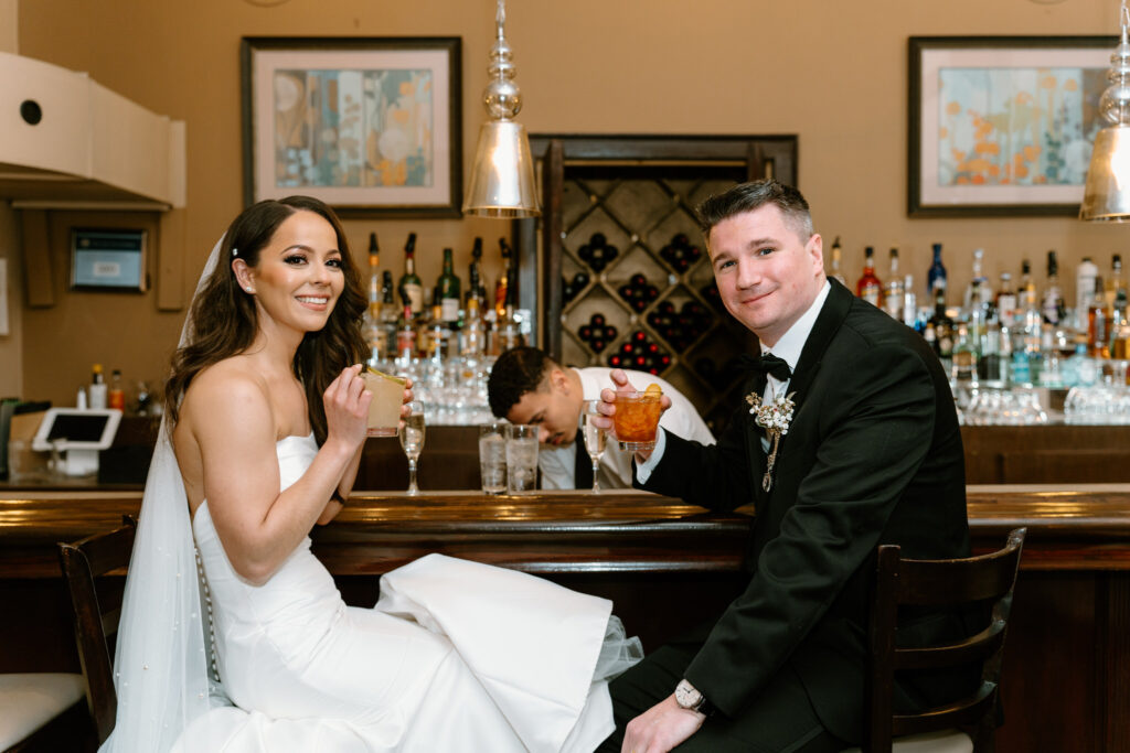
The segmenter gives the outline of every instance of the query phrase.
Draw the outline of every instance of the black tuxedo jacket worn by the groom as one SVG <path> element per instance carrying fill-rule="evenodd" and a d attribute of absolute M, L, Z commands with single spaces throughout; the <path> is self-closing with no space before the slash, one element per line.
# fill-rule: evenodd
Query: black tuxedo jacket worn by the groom
<path fill-rule="evenodd" d="M 913 330 L 831 284 L 789 384 L 796 410 L 771 491 L 762 490 L 763 430 L 745 402 L 715 446 L 668 434 L 644 488 L 715 510 L 756 506 L 749 585 L 687 678 L 734 717 L 789 662 L 825 726 L 858 739 L 876 546 L 967 557 L 970 536 L 962 438 L 941 365 Z M 764 386 L 764 377 L 750 379 L 744 394 Z M 903 623 L 912 637 L 966 632 L 951 614 Z M 933 700 L 929 690 L 915 695 L 913 682 L 902 690 L 910 702 Z"/>

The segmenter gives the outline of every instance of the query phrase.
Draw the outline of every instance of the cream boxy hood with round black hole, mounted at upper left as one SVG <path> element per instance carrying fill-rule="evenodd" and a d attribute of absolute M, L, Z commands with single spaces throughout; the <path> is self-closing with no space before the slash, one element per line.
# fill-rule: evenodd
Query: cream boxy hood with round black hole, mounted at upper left
<path fill-rule="evenodd" d="M 17 209 L 183 208 L 184 121 L 0 52 L 0 198 Z"/>

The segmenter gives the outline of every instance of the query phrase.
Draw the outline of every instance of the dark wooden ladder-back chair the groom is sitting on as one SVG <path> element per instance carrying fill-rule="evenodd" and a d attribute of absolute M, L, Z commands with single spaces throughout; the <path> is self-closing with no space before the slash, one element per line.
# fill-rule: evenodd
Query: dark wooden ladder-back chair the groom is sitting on
<path fill-rule="evenodd" d="M 898 546 L 879 546 L 871 596 L 870 656 L 864 753 L 993 750 L 1005 632 L 1026 528 L 1008 534 L 1003 549 L 959 560 L 906 560 Z M 899 606 L 991 606 L 989 624 L 960 642 L 902 648 L 896 636 Z M 981 684 L 967 698 L 919 713 L 892 708 L 895 672 L 980 663 Z"/>

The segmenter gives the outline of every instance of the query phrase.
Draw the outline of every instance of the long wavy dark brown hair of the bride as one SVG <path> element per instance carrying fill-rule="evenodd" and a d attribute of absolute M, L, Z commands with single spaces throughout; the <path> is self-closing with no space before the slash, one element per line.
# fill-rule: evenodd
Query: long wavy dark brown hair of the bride
<path fill-rule="evenodd" d="M 259 253 L 278 227 L 297 211 L 310 211 L 333 227 L 341 252 L 345 289 L 325 326 L 307 332 L 294 357 L 294 374 L 306 391 L 310 423 L 314 438 L 325 441 L 325 408 L 322 393 L 346 366 L 362 360 L 365 340 L 360 332 L 365 294 L 360 273 L 349 253 L 349 243 L 333 210 L 311 196 L 260 201 L 232 221 L 219 249 L 216 269 L 192 303 L 192 331 L 186 343 L 173 354 L 173 373 L 165 383 L 165 410 L 169 427 L 180 418 L 181 395 L 193 377 L 217 361 L 246 350 L 259 330 L 254 298 L 245 292 L 232 270 L 232 249 L 249 266 L 259 264 Z"/>

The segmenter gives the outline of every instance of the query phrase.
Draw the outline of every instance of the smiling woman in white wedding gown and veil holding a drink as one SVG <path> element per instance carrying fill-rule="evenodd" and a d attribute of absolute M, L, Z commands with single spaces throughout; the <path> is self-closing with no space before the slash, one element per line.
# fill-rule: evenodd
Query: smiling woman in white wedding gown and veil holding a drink
<path fill-rule="evenodd" d="M 364 308 L 315 199 L 249 208 L 212 251 L 167 384 L 104 751 L 591 751 L 611 732 L 607 680 L 640 650 L 609 602 L 432 554 L 350 607 L 311 553 L 365 440 Z"/>

